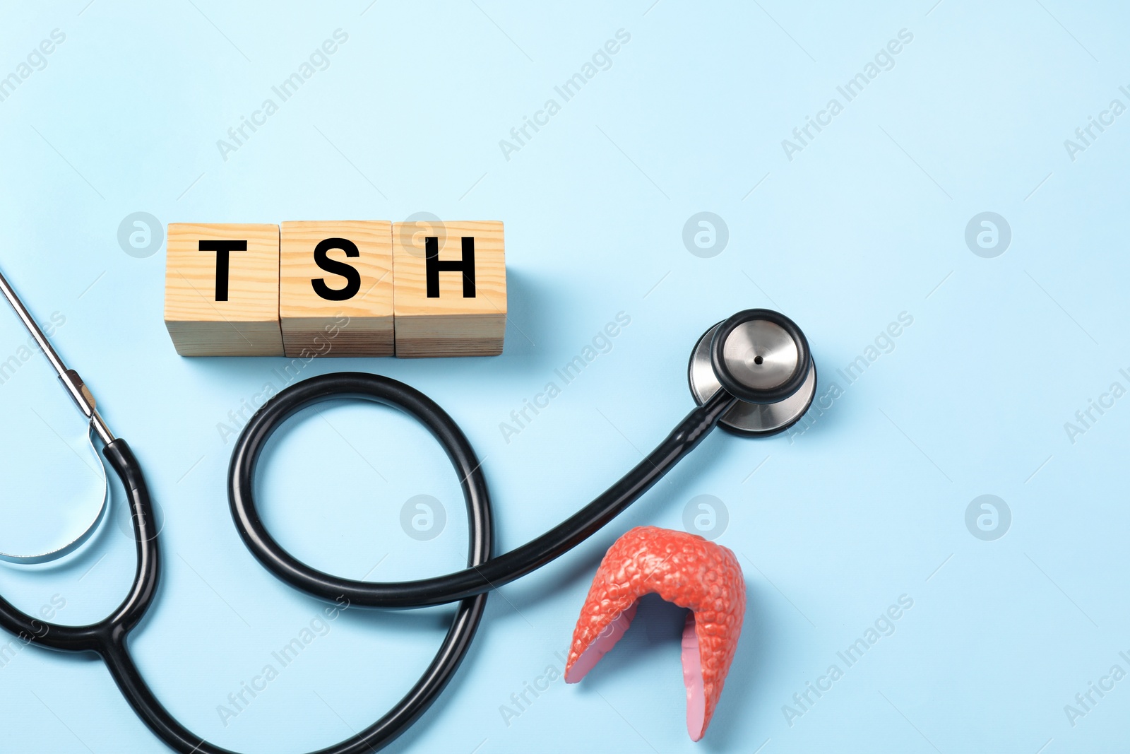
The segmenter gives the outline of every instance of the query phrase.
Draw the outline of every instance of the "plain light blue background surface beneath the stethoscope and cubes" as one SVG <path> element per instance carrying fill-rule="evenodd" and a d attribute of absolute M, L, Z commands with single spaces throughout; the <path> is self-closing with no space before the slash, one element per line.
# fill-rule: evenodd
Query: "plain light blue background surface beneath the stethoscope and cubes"
<path fill-rule="evenodd" d="M 157 696 L 229 748 L 319 748 L 399 699 L 450 609 L 347 610 L 224 726 L 217 705 L 322 609 L 254 562 L 224 492 L 232 441 L 217 424 L 266 382 L 281 387 L 284 359 L 179 357 L 162 322 L 164 249 L 124 253 L 119 224 L 134 211 L 162 223 L 429 211 L 505 222 L 504 355 L 332 359 L 303 376 L 370 370 L 444 406 L 485 459 L 499 552 L 669 431 L 690 406 L 692 344 L 733 311 L 772 306 L 800 323 L 822 392 L 844 387 L 836 370 L 901 312 L 913 324 L 803 434 L 715 433 L 607 530 L 492 596 L 458 677 L 390 751 L 1123 747 L 1130 681 L 1075 726 L 1064 705 L 1112 665 L 1130 671 L 1119 657 L 1130 653 L 1130 398 L 1075 443 L 1064 423 L 1113 381 L 1130 387 L 1119 374 L 1130 115 L 1075 161 L 1063 141 L 1111 99 L 1130 104 L 1119 92 L 1130 18 L 1116 3 L 7 3 L 0 75 L 52 29 L 66 41 L 0 102 L 0 261 L 41 319 L 66 318 L 55 344 L 164 511 L 160 593 L 131 643 Z M 224 161 L 217 139 L 338 28 L 348 42 L 329 68 Z M 782 139 L 904 28 L 913 41 L 894 68 L 790 161 Z M 611 67 L 506 159 L 499 139 L 617 29 L 631 42 Z M 729 228 L 713 258 L 681 240 L 703 210 Z M 986 210 L 1012 233 L 992 259 L 964 240 Z M 507 443 L 499 423 L 621 311 L 632 323 L 610 353 Z M 0 358 L 24 339 L 3 322 Z M 41 364 L 0 385 L 0 406 L 11 546 L 43 536 L 34 519 L 88 512 L 97 482 L 63 447 L 81 449 L 82 426 Z M 454 476 L 389 411 L 296 421 L 261 487 L 284 545 L 333 573 L 424 575 L 466 555 Z M 399 526 L 416 494 L 447 512 L 429 541 Z M 681 617 L 652 603 L 584 683 L 553 683 L 507 726 L 499 707 L 559 668 L 605 549 L 634 525 L 680 528 L 702 494 L 728 509 L 718 541 L 740 553 L 749 596 L 705 740 L 685 731 Z M 993 541 L 965 525 L 981 494 L 1011 511 Z M 59 621 L 101 618 L 132 578 L 124 525 L 119 495 L 84 551 L 0 569 L 0 589 L 28 610 L 58 596 Z M 913 608 L 895 632 L 790 726 L 782 707 L 901 595 Z M 0 709 L 3 752 L 165 751 L 88 658 L 17 651 L 0 667 Z"/>

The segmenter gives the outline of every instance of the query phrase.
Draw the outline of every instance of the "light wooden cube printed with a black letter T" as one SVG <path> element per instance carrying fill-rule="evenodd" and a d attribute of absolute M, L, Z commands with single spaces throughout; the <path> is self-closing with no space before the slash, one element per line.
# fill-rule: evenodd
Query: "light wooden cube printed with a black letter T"
<path fill-rule="evenodd" d="M 281 356 L 279 226 L 171 223 L 165 327 L 182 356 Z"/>

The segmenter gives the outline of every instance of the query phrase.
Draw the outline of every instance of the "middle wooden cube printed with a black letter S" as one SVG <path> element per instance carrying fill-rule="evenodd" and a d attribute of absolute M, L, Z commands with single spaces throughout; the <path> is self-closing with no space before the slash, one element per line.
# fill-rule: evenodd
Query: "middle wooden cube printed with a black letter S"
<path fill-rule="evenodd" d="M 392 223 L 282 223 L 279 244 L 287 356 L 392 356 Z"/>

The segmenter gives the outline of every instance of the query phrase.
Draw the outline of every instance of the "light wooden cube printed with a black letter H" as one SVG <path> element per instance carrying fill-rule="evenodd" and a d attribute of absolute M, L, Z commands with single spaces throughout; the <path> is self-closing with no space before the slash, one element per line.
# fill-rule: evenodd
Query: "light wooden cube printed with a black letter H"
<path fill-rule="evenodd" d="M 434 234 L 428 235 L 428 233 Z M 506 257 L 496 220 L 392 226 L 397 356 L 496 356 L 506 332 Z"/>

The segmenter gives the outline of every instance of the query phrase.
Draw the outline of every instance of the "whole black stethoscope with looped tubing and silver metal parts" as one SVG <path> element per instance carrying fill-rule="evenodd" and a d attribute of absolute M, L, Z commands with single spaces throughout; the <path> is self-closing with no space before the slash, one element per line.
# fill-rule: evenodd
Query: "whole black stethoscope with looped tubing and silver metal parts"
<path fill-rule="evenodd" d="M 122 604 L 102 621 L 80 626 L 49 623 L 0 597 L 0 625 L 41 647 L 98 655 L 125 701 L 171 748 L 182 754 L 233 754 L 194 736 L 177 722 L 138 671 L 127 638 L 153 603 L 160 575 L 156 520 L 141 467 L 129 444 L 110 432 L 81 378 L 66 367 L 2 275 L 0 289 L 89 421 L 92 444 L 94 435 L 102 441 L 102 454 L 125 488 L 137 545 L 133 586 Z M 340 372 L 290 385 L 255 413 L 232 453 L 227 487 L 235 527 L 267 570 L 313 597 L 339 605 L 347 601 L 365 607 L 405 608 L 459 603 L 440 651 L 409 692 L 368 728 L 316 754 L 362 754 L 392 742 L 451 681 L 483 619 L 489 590 L 541 567 L 591 537 L 659 482 L 715 426 L 746 436 L 776 434 L 800 419 L 816 392 L 816 366 L 803 332 L 788 317 L 766 309 L 738 312 L 703 333 L 692 352 L 688 378 L 697 406 L 651 453 L 572 517 L 497 557 L 490 556 L 494 528 L 480 462 L 451 416 L 420 391 L 376 374 Z M 416 581 L 356 581 L 306 565 L 271 537 L 255 503 L 253 480 L 260 453 L 295 413 L 342 398 L 368 400 L 405 411 L 426 426 L 446 451 L 467 503 L 470 535 L 467 569 Z M 105 503 L 78 539 L 58 549 L 35 555 L 0 555 L 17 563 L 54 560 L 81 545 L 104 515 Z"/>

